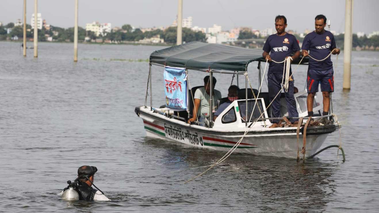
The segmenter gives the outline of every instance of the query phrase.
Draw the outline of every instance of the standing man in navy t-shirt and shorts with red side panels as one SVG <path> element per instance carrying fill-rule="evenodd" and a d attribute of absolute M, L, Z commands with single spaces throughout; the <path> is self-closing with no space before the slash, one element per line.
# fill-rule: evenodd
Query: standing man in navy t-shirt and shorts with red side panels
<path fill-rule="evenodd" d="M 329 31 L 324 30 L 326 27 L 326 17 L 318 15 L 315 18 L 315 31 L 305 36 L 302 49 L 302 55 L 312 56 L 316 60 L 323 60 L 332 52 L 333 55 L 340 54 L 340 49 L 336 49 L 334 36 Z M 310 53 L 308 53 L 310 50 Z M 330 92 L 334 91 L 334 71 L 333 63 L 330 56 L 324 61 L 316 61 L 309 58 L 308 74 L 307 74 L 307 110 L 308 116 L 313 116 L 313 99 L 318 92 L 318 84 L 321 83 L 321 91 L 323 92 L 323 115 L 329 114 Z M 329 123 L 327 119 L 323 119 L 324 124 Z"/>

